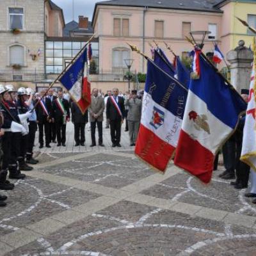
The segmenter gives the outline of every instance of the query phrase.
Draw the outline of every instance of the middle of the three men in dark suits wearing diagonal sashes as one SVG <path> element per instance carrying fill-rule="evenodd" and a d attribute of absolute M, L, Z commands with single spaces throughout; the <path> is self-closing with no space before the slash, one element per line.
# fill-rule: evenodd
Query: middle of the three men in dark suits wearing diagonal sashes
<path fill-rule="evenodd" d="M 63 90 L 58 91 L 58 98 L 52 102 L 52 116 L 56 125 L 57 147 L 66 147 L 66 122 L 70 121 L 68 101 L 63 99 Z"/>

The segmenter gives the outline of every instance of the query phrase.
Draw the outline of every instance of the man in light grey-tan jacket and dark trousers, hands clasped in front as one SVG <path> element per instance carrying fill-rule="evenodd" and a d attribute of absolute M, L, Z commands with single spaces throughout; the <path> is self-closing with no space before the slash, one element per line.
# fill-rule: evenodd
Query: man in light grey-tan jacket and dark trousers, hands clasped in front
<path fill-rule="evenodd" d="M 101 96 L 99 96 L 98 89 L 94 88 L 92 90 L 91 105 L 88 108 L 90 122 L 91 122 L 91 138 L 92 138 L 92 144 L 90 145 L 90 147 L 96 146 L 96 140 L 95 140 L 96 124 L 98 128 L 98 133 L 99 133 L 99 146 L 104 147 L 103 139 L 102 139 L 102 122 L 103 122 L 104 108 L 105 108 L 104 99 Z"/>

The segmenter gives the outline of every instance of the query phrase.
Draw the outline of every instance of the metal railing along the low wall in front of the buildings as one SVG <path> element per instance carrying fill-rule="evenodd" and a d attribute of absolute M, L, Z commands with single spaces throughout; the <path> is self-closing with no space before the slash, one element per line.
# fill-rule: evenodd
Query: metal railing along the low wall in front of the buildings
<path fill-rule="evenodd" d="M 123 82 L 127 68 L 119 68 L 116 70 L 100 70 L 98 74 L 90 74 L 91 82 Z M 45 74 L 42 69 L 12 69 L 0 68 L 0 82 L 33 82 L 38 83 L 44 80 L 54 80 L 59 74 Z"/>

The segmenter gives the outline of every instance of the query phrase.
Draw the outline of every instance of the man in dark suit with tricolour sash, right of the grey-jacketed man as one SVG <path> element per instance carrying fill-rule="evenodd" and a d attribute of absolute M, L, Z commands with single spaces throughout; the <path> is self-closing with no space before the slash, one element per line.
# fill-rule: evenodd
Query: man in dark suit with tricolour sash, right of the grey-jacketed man
<path fill-rule="evenodd" d="M 113 96 L 108 97 L 106 116 L 109 119 L 112 147 L 121 147 L 121 125 L 124 122 L 124 98 L 118 96 L 118 88 L 113 89 Z"/>

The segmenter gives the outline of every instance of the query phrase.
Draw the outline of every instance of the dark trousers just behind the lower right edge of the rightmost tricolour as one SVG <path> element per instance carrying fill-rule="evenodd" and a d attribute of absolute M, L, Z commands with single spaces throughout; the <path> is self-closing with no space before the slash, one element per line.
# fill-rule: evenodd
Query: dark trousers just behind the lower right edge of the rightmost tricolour
<path fill-rule="evenodd" d="M 234 173 L 236 168 L 236 141 L 233 136 L 223 145 L 222 150 L 226 170 L 230 173 Z"/>

